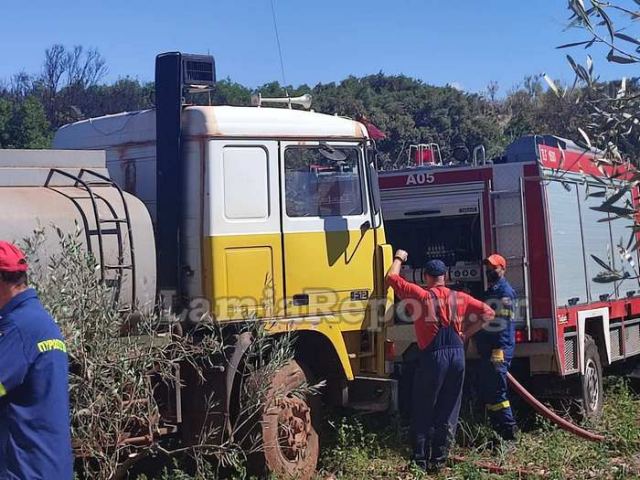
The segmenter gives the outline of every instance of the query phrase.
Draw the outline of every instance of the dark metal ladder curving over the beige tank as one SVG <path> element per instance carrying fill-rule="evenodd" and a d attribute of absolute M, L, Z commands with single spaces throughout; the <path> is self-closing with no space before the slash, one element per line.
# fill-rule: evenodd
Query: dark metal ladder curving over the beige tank
<path fill-rule="evenodd" d="M 93 211 L 93 220 L 95 222 L 95 229 L 90 229 L 88 225 L 86 225 L 86 236 L 87 236 L 87 248 L 89 249 L 89 253 L 93 254 L 94 257 L 97 258 L 100 266 L 100 281 L 105 283 L 109 287 L 114 288 L 114 303 L 118 303 L 121 294 L 122 288 L 122 280 L 124 276 L 125 270 L 129 270 L 131 272 L 131 306 L 133 306 L 136 299 L 136 261 L 135 261 L 135 250 L 133 246 L 133 235 L 131 228 L 131 216 L 129 214 L 129 206 L 127 204 L 127 200 L 124 196 L 124 192 L 122 189 L 109 177 L 102 175 L 101 173 L 95 172 L 89 169 L 81 169 L 78 175 L 73 175 L 67 171 L 60 170 L 58 168 L 52 168 L 49 171 L 49 175 L 45 182 L 45 187 L 50 187 L 51 179 L 55 174 L 62 175 L 74 181 L 73 186 L 75 188 L 83 188 L 87 194 L 88 198 L 91 201 L 91 207 Z M 86 177 L 93 177 L 93 181 L 87 180 Z M 116 209 L 114 206 L 109 203 L 109 201 L 100 196 L 93 187 L 112 187 L 115 188 L 120 196 L 122 201 L 122 209 L 124 212 L 124 217 L 118 217 Z M 72 200 L 78 200 L 79 198 L 72 198 Z M 101 217 L 98 209 L 98 201 L 102 201 L 104 205 L 107 207 L 110 216 L 109 217 Z M 111 228 L 107 228 L 108 225 L 111 225 Z M 128 247 L 129 247 L 129 260 L 130 262 L 125 262 L 125 245 L 124 245 L 124 235 L 123 235 L 123 226 L 126 227 L 127 237 L 128 237 Z M 118 260 L 115 264 L 108 264 L 105 260 L 104 254 L 104 244 L 106 236 L 115 236 L 117 251 L 118 251 Z M 91 242 L 91 238 L 96 237 L 98 242 L 98 255 L 95 255 L 93 252 L 93 244 Z M 109 271 L 114 271 L 116 273 L 116 278 L 106 278 L 106 273 Z"/>

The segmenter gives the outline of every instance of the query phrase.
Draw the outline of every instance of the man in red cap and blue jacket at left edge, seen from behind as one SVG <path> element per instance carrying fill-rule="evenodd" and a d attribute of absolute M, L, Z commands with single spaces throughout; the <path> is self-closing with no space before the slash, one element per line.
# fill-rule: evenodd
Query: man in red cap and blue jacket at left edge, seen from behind
<path fill-rule="evenodd" d="M 68 390 L 60 330 L 0 241 L 0 479 L 73 477 Z"/>

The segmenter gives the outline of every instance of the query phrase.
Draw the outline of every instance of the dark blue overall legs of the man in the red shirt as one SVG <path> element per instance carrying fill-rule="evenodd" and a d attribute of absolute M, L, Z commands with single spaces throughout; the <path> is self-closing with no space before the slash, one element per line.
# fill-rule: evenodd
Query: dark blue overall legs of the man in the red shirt
<path fill-rule="evenodd" d="M 441 329 L 439 335 L 449 328 Z M 414 377 L 411 423 L 413 458 L 423 468 L 447 459 L 458 425 L 464 367 L 462 342 L 421 352 Z"/>

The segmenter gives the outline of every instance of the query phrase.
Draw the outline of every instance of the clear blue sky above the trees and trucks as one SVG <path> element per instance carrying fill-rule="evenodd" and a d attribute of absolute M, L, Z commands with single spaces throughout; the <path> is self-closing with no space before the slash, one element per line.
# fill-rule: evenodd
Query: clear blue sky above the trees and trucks
<path fill-rule="evenodd" d="M 286 81 L 339 81 L 369 73 L 403 73 L 423 81 L 500 92 L 525 75 L 572 80 L 563 50 L 580 39 L 563 31 L 565 0 L 273 0 Z M 270 0 L 109 0 L 10 2 L 0 29 L 0 79 L 39 71 L 53 43 L 96 47 L 106 81 L 152 80 L 156 53 L 211 53 L 218 77 L 248 86 L 282 82 Z M 574 51 L 584 59 L 585 51 Z M 629 68 L 596 54 L 603 78 Z"/>

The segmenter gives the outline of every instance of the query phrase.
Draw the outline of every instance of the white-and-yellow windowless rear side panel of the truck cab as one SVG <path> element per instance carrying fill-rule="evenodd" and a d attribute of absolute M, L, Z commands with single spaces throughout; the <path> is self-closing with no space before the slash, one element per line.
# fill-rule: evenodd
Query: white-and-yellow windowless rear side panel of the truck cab
<path fill-rule="evenodd" d="M 278 142 L 213 140 L 209 158 L 205 284 L 216 318 L 283 316 Z"/>

